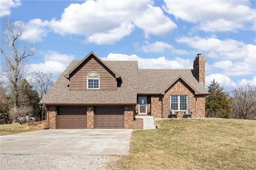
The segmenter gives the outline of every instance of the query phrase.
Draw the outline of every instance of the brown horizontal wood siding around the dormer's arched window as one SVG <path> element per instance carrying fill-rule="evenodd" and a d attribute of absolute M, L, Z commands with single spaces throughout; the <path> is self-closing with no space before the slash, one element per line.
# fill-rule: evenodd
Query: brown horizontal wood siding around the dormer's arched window
<path fill-rule="evenodd" d="M 117 83 L 115 75 L 96 57 L 91 57 L 88 62 L 84 62 L 70 76 L 71 90 L 86 90 L 87 75 L 94 71 L 100 76 L 100 90 L 116 90 Z"/>

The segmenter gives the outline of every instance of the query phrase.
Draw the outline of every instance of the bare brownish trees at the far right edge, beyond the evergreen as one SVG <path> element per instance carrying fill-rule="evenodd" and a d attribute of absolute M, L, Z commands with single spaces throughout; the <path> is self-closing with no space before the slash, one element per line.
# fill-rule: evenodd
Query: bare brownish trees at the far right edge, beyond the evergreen
<path fill-rule="evenodd" d="M 255 119 L 256 85 L 250 83 L 238 86 L 231 92 L 233 97 L 232 117 L 237 119 Z"/>

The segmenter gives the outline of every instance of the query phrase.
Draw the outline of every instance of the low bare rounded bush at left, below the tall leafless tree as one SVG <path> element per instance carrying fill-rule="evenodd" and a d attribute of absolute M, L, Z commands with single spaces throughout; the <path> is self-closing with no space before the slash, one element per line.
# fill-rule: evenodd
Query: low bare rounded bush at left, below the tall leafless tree
<path fill-rule="evenodd" d="M 27 119 L 32 116 L 32 108 L 26 105 L 22 105 L 17 108 L 13 107 L 10 109 L 9 114 L 13 122 L 17 121 L 23 125 L 27 122 Z"/>

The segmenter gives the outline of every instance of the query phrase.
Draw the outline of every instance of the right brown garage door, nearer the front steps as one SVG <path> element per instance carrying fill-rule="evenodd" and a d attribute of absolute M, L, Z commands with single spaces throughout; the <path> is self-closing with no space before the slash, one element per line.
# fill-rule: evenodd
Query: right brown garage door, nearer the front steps
<path fill-rule="evenodd" d="M 96 128 L 124 128 L 124 107 L 96 107 Z"/>

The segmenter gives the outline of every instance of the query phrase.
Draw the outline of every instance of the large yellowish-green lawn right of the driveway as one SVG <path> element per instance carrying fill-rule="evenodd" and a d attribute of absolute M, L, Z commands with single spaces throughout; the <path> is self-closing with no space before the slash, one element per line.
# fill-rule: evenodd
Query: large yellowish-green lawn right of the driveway
<path fill-rule="evenodd" d="M 256 167 L 256 121 L 165 119 L 160 128 L 132 132 L 128 170 L 251 170 Z"/>

